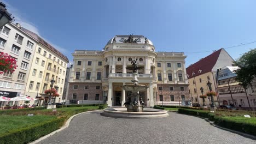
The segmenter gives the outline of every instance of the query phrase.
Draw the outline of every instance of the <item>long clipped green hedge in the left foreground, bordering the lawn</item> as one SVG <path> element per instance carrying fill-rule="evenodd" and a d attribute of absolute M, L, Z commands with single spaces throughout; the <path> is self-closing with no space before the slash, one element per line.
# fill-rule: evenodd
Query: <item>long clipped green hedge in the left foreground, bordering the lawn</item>
<path fill-rule="evenodd" d="M 42 122 L 31 127 L 16 129 L 7 134 L 0 135 L 0 144 L 28 143 L 59 129 L 65 122 L 65 117 L 53 119 L 50 122 Z"/>

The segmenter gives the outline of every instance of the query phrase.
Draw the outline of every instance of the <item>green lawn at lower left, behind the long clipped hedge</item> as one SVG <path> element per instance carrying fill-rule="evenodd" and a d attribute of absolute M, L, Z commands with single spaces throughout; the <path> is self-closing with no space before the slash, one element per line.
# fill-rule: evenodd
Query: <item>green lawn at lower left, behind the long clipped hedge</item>
<path fill-rule="evenodd" d="M 0 135 L 8 133 L 19 128 L 26 128 L 29 125 L 38 124 L 42 121 L 50 121 L 51 119 L 56 118 L 56 116 L 48 115 L 37 115 L 37 116 L 9 116 L 1 115 L 0 116 Z"/>

